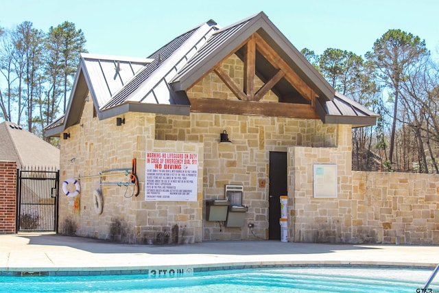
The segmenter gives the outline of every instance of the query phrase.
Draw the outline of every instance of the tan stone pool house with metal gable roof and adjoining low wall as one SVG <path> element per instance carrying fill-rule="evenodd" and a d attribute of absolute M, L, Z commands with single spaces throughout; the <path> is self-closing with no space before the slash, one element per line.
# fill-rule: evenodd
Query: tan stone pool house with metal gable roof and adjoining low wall
<path fill-rule="evenodd" d="M 351 171 L 351 130 L 376 118 L 263 12 L 207 21 L 148 58 L 82 54 L 46 129 L 61 137 L 58 230 L 130 244 L 439 243 L 436 198 L 414 207 L 398 193 L 406 177 Z M 401 226 L 401 204 L 423 231 Z"/>

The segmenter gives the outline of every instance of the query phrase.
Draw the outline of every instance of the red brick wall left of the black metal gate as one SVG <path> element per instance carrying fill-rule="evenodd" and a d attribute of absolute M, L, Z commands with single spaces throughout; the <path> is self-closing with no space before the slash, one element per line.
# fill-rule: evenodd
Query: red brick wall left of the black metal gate
<path fill-rule="evenodd" d="M 0 186 L 0 233 L 15 233 L 15 162 L 0 161 Z"/>

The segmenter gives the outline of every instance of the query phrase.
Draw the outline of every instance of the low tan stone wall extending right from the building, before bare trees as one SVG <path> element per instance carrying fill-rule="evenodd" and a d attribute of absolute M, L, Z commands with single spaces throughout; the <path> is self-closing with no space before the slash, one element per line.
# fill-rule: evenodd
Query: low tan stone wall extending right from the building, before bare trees
<path fill-rule="evenodd" d="M 439 244 L 439 175 L 353 172 L 355 243 Z"/>

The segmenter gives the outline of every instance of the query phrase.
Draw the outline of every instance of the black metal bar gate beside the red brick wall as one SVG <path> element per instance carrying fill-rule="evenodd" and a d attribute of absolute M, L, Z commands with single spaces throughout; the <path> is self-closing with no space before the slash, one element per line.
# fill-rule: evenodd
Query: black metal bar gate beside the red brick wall
<path fill-rule="evenodd" d="M 16 231 L 58 231 L 58 183 L 54 167 L 17 169 Z"/>

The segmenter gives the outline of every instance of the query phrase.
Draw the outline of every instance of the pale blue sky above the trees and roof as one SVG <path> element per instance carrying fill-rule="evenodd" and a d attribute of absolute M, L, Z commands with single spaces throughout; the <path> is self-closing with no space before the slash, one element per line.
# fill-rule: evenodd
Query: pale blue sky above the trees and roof
<path fill-rule="evenodd" d="M 90 53 L 146 57 L 209 19 L 227 26 L 261 11 L 295 47 L 317 54 L 332 47 L 364 56 L 389 29 L 420 36 L 439 51 L 437 0 L 0 0 L 0 26 L 31 21 L 47 32 L 70 21 L 84 32 Z"/>

